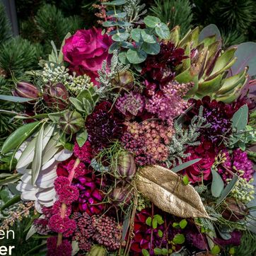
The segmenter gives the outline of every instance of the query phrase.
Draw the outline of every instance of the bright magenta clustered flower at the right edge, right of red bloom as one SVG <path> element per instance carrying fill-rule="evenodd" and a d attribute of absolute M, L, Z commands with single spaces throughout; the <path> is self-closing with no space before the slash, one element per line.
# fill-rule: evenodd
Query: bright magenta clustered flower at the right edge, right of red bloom
<path fill-rule="evenodd" d="M 240 149 L 235 149 L 232 153 L 227 150 L 223 150 L 224 158 L 223 163 L 219 165 L 218 172 L 222 179 L 226 182 L 227 179 L 233 178 L 232 172 L 237 173 L 240 178 L 245 179 L 249 182 L 255 170 L 253 169 L 253 163 L 248 158 L 245 151 Z"/>

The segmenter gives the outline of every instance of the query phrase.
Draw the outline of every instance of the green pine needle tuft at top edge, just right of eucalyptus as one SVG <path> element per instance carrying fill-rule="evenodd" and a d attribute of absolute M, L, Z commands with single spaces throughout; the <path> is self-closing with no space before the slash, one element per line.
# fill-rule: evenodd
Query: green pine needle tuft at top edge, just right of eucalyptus
<path fill-rule="evenodd" d="M 155 0 L 155 6 L 149 10 L 163 23 L 169 23 L 171 29 L 179 25 L 181 35 L 191 28 L 193 16 L 189 0 Z"/>

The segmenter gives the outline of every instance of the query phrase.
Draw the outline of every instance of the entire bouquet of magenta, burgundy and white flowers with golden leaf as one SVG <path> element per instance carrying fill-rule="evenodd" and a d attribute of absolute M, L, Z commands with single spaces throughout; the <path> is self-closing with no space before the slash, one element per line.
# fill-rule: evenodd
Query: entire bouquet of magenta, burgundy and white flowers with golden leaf
<path fill-rule="evenodd" d="M 0 229 L 30 220 L 25 255 L 252 255 L 255 43 L 182 37 L 136 0 L 95 7 L 104 29 L 52 42 L 0 96 L 24 110 Z"/>

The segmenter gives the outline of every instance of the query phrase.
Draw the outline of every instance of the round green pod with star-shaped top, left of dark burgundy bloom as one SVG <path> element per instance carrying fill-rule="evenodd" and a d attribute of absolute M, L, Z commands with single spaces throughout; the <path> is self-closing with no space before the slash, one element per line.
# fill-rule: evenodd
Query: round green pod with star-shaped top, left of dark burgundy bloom
<path fill-rule="evenodd" d="M 64 115 L 59 118 L 59 124 L 66 134 L 75 134 L 85 125 L 80 113 L 69 110 L 66 110 Z"/>

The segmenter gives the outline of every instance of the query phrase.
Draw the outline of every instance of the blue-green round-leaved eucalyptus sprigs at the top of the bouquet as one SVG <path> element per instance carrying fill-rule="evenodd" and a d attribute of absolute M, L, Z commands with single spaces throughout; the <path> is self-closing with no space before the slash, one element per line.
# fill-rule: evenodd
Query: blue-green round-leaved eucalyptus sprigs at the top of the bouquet
<path fill-rule="evenodd" d="M 139 2 L 139 0 L 115 0 L 104 3 L 105 6 L 113 8 L 107 11 L 108 21 L 103 23 L 106 28 L 115 28 L 110 32 L 115 42 L 110 46 L 109 52 L 118 50 L 119 60 L 123 64 L 140 64 L 146 60 L 148 54 L 158 54 L 159 40 L 170 37 L 168 26 L 159 18 L 146 16 L 143 21 L 139 21 L 139 17 L 146 13 L 142 11 L 144 6 L 139 6 Z M 122 11 L 117 9 L 122 5 L 124 5 Z M 131 10 L 131 7 L 138 9 Z M 144 23 L 146 27 L 140 28 L 140 23 Z"/>

